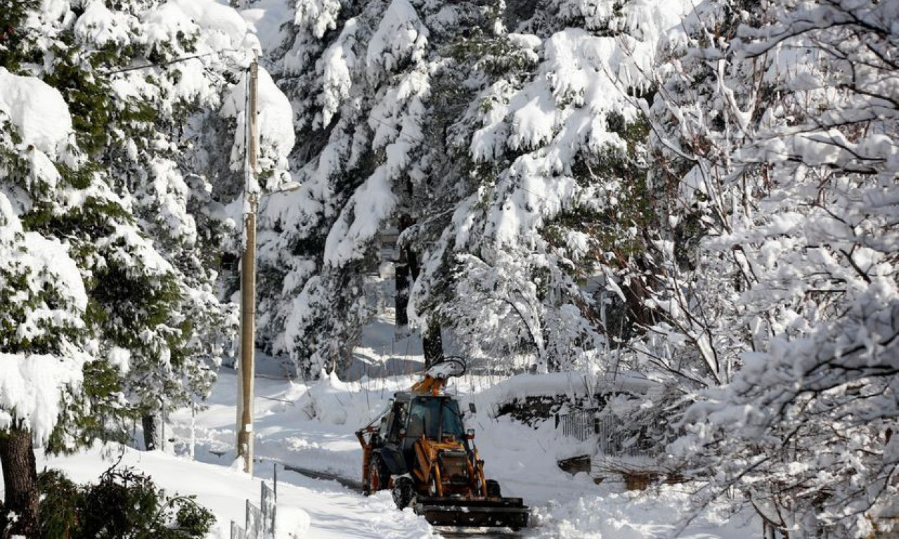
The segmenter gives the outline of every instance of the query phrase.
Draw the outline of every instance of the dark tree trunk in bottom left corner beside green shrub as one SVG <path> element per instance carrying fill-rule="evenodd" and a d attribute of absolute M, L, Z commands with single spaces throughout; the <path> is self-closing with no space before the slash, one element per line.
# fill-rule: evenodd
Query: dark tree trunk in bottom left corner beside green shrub
<path fill-rule="evenodd" d="M 38 470 L 30 431 L 10 429 L 0 434 L 0 464 L 6 491 L 4 506 L 16 515 L 11 535 L 40 539 Z"/>

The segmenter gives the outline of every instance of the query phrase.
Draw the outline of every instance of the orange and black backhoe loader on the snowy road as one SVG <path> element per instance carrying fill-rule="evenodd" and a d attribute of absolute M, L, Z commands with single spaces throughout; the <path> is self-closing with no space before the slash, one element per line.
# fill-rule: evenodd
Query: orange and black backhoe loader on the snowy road
<path fill-rule="evenodd" d="M 499 483 L 485 479 L 475 431 L 442 392 L 450 376 L 464 373 L 462 358 L 443 359 L 356 432 L 363 489 L 392 490 L 397 508 L 411 506 L 435 526 L 528 526 L 521 498 L 503 498 Z"/>

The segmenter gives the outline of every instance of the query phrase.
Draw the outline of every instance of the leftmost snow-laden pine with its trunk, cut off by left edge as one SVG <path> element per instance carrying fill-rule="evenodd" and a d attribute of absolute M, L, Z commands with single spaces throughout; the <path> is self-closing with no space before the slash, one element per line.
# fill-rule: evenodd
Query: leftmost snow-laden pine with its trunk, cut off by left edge
<path fill-rule="evenodd" d="M 101 239 L 94 227 L 114 219 L 100 208 L 118 199 L 90 176 L 81 184 L 84 156 L 57 90 L 3 67 L 0 88 L 0 526 L 36 537 L 34 445 L 72 449 L 123 404 L 121 351 L 99 353 L 83 264 Z"/>

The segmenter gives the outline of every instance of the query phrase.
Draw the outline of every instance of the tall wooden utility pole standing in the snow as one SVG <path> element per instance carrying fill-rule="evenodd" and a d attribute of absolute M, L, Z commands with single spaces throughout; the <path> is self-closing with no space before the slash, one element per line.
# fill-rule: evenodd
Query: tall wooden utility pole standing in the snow
<path fill-rule="evenodd" d="M 253 389 L 256 334 L 256 206 L 259 185 L 256 156 L 259 130 L 256 125 L 259 65 L 254 57 L 250 64 L 249 90 L 246 103 L 246 161 L 244 181 L 245 247 L 240 260 L 240 402 L 237 421 L 237 455 L 244 458 L 244 472 L 253 475 Z"/>

